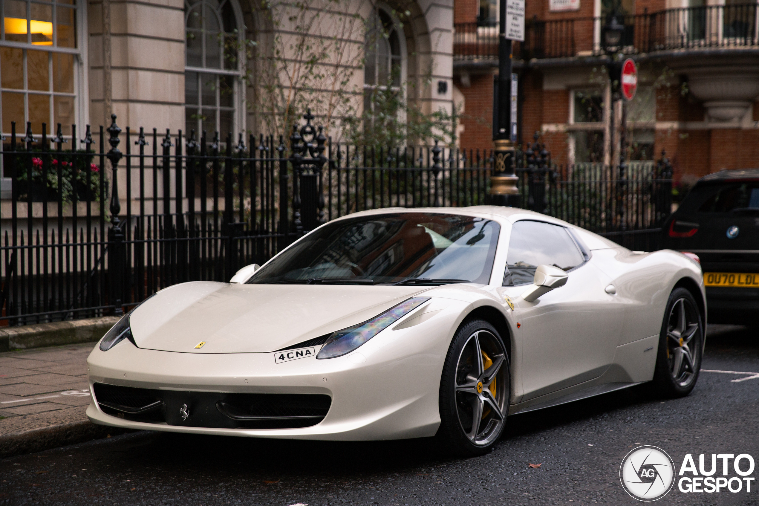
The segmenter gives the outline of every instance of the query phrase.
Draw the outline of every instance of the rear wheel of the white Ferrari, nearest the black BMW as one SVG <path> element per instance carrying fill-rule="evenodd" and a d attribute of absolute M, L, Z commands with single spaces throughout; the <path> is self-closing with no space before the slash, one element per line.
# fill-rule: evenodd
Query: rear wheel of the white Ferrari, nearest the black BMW
<path fill-rule="evenodd" d="M 676 288 L 669 294 L 659 336 L 653 392 L 667 398 L 691 393 L 701 370 L 704 322 L 693 294 Z"/>

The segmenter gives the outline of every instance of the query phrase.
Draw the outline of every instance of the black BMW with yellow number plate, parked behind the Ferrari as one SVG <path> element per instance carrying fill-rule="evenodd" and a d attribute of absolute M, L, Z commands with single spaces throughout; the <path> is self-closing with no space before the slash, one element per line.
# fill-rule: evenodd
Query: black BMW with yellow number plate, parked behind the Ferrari
<path fill-rule="evenodd" d="M 701 259 L 709 322 L 759 323 L 759 169 L 704 176 L 662 232 L 663 247 Z"/>

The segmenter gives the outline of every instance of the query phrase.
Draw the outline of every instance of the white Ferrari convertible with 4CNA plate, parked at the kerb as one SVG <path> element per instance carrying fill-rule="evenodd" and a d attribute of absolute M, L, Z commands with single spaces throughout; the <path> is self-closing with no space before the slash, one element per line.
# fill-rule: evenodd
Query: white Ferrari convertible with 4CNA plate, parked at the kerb
<path fill-rule="evenodd" d="M 87 360 L 94 423 L 260 438 L 436 436 L 488 451 L 506 416 L 652 382 L 688 394 L 698 257 L 499 206 L 321 225 L 230 283 L 145 300 Z"/>

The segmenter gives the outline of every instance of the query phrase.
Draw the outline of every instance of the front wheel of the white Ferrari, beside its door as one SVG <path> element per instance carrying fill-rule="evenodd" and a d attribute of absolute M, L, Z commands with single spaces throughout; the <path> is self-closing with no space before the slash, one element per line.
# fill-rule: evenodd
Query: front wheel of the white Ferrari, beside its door
<path fill-rule="evenodd" d="M 437 438 L 454 454 L 487 454 L 503 431 L 510 391 L 509 356 L 498 331 L 481 319 L 465 321 L 442 367 Z"/>

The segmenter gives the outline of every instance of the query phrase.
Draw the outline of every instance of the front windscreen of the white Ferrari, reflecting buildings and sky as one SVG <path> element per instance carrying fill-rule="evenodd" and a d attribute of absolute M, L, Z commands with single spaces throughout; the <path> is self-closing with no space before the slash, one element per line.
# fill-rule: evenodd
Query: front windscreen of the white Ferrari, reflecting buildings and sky
<path fill-rule="evenodd" d="M 500 227 L 472 216 L 396 212 L 330 222 L 249 284 L 487 284 Z"/>

